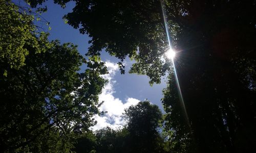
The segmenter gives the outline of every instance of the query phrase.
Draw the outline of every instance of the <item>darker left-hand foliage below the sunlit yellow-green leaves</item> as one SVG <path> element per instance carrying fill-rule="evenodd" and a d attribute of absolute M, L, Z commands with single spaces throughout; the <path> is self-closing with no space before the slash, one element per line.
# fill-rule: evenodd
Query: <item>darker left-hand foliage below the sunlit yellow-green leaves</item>
<path fill-rule="evenodd" d="M 73 44 L 50 44 L 40 54 L 27 45 L 26 65 L 9 67 L 8 76 L 0 80 L 3 151 L 65 152 L 77 134 L 94 125 L 91 117 L 99 113 L 98 94 L 105 83 L 100 74 L 106 68 L 85 61 Z M 88 69 L 78 73 L 82 62 Z M 1 62 L 1 71 L 5 64 Z"/>

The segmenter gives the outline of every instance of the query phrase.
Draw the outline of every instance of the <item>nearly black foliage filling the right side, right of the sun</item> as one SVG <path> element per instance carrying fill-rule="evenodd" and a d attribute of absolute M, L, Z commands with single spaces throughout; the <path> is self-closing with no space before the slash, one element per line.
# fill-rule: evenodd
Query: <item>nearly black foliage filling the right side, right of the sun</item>
<path fill-rule="evenodd" d="M 182 28 L 176 36 L 181 51 L 175 64 L 189 125 L 174 95 L 178 90 L 173 77 L 162 100 L 167 130 L 175 130 L 179 143 L 188 140 L 186 147 L 194 152 L 253 152 L 255 5 L 197 1 L 177 7 L 185 14 L 176 17 Z"/>

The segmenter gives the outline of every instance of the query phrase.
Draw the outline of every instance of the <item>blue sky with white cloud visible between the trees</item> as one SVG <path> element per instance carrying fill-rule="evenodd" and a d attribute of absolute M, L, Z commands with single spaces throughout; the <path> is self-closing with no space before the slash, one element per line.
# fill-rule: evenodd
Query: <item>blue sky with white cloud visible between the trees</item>
<path fill-rule="evenodd" d="M 88 44 L 90 38 L 87 35 L 80 34 L 78 30 L 66 24 L 62 19 L 63 15 L 72 11 L 74 3 L 69 3 L 65 9 L 54 4 L 51 0 L 47 1 L 44 5 L 47 5 L 48 11 L 41 16 L 42 19 L 44 18 L 50 22 L 51 30 L 49 31 L 49 40 L 58 39 L 61 43 L 72 42 L 78 45 L 78 51 L 81 55 L 86 54 L 90 46 Z M 37 24 L 45 27 L 44 22 L 38 22 Z M 48 31 L 47 28 L 45 31 Z M 162 112 L 164 112 L 161 104 L 161 98 L 163 97 L 162 90 L 166 86 L 164 78 L 161 84 L 150 86 L 148 84 L 149 79 L 145 75 L 130 74 L 127 72 L 134 61 L 130 61 L 130 59 L 125 60 L 126 72 L 125 74 L 120 74 L 116 64 L 118 62 L 117 58 L 111 57 L 103 51 L 101 60 L 105 62 L 109 70 L 109 74 L 105 74 L 102 77 L 108 79 L 109 83 L 99 95 L 99 100 L 104 101 L 99 109 L 108 113 L 103 116 L 94 116 L 97 124 L 92 127 L 92 130 L 98 130 L 106 126 L 113 127 L 114 129 L 116 127 L 122 127 L 124 124 L 122 118 L 124 109 L 129 108 L 131 105 L 136 105 L 139 101 L 145 99 L 150 100 L 152 104 L 158 105 Z M 81 69 L 84 68 L 85 66 L 81 67 Z"/>

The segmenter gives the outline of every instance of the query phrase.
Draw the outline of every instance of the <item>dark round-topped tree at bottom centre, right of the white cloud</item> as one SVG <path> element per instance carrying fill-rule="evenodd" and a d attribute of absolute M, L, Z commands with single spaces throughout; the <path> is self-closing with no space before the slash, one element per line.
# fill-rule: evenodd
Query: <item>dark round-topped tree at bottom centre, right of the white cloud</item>
<path fill-rule="evenodd" d="M 127 152 L 164 152 L 164 141 L 159 134 L 162 113 L 158 106 L 141 101 L 125 110 L 129 132 Z"/>

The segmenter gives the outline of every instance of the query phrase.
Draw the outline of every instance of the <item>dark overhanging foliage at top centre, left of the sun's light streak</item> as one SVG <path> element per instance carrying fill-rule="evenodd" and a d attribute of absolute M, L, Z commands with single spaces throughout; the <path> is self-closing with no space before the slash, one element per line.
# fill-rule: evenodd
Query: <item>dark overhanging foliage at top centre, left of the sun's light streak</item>
<path fill-rule="evenodd" d="M 45 1 L 29 2 L 36 6 Z M 62 5 L 69 1 L 54 2 Z M 88 56 L 100 55 L 105 48 L 121 62 L 127 56 L 135 59 L 130 72 L 147 74 L 153 84 L 160 83 L 170 64 L 162 60 L 168 46 L 161 12 L 159 1 L 77 1 L 73 12 L 64 18 L 92 37 Z"/>

